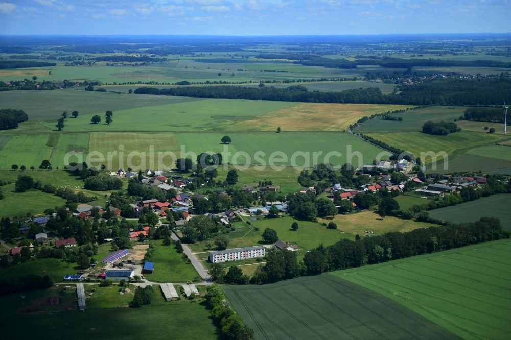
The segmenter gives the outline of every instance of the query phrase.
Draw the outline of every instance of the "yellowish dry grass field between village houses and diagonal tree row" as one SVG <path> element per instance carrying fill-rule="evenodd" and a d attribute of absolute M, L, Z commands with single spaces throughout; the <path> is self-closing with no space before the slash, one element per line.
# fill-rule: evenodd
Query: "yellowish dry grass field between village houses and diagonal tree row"
<path fill-rule="evenodd" d="M 407 232 L 413 229 L 428 228 L 431 226 L 431 224 L 428 223 L 402 220 L 401 218 L 391 216 L 385 217 L 382 221 L 380 215 L 373 211 L 362 211 L 347 215 L 339 214 L 336 215 L 333 220 L 319 220 L 319 222 L 324 223 L 330 221 L 334 221 L 337 224 L 338 230 L 349 235 L 346 237 L 351 237 L 356 234 L 363 236 L 365 235 L 364 230 L 373 231 L 376 235 L 382 235 L 393 231 Z"/>

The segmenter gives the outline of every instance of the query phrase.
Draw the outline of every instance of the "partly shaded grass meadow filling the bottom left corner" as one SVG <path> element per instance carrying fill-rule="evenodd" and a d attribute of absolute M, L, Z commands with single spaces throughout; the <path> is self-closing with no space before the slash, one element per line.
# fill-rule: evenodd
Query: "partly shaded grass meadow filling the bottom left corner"
<path fill-rule="evenodd" d="M 8 307 L 2 308 L 2 320 L 10 325 L 4 329 L 4 334 L 8 337 L 20 337 L 22 329 L 22 338 L 37 337 L 41 332 L 44 336 L 58 338 L 62 336 L 62 328 L 70 328 L 79 330 L 73 331 L 73 337 L 76 339 L 92 337 L 156 339 L 165 336 L 177 340 L 219 338 L 217 328 L 210 318 L 210 311 L 202 303 L 189 300 L 166 302 L 159 287 L 155 285 L 151 305 L 123 308 L 127 297 L 132 296 L 118 295 L 117 288 L 96 286 L 96 293 L 90 298 L 87 297 L 85 313 L 78 312 L 76 303 L 69 305 L 71 310 L 62 305 L 53 307 L 59 312 L 52 313 L 53 309 L 48 307 L 50 289 L 24 292 L 25 298 L 22 300 L 19 294 L 0 297 L 0 305 Z M 88 291 L 87 286 L 86 290 Z M 53 295 L 58 296 L 58 292 Z M 74 302 L 76 291 L 66 293 L 65 298 L 64 302 L 71 299 Z M 21 313 L 12 309 L 13 305 L 18 306 L 20 303 L 28 306 L 29 308 L 25 309 L 30 311 Z M 49 312 L 44 312 L 45 310 Z"/>

